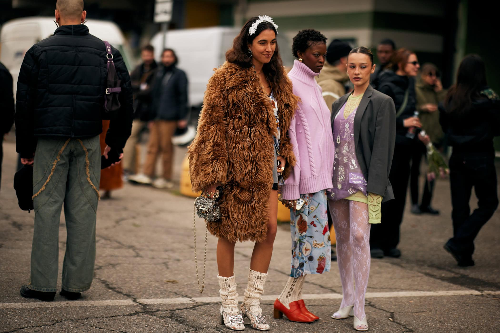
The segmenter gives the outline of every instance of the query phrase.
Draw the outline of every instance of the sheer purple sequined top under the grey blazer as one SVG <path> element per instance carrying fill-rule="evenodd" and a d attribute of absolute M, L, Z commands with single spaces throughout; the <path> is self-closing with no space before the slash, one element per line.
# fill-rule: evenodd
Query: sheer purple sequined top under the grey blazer
<path fill-rule="evenodd" d="M 359 163 L 357 163 L 354 147 L 354 116 L 356 108 L 344 119 L 345 105 L 340 108 L 333 120 L 333 141 L 335 142 L 335 157 L 333 159 L 333 188 L 330 199 L 340 200 L 361 191 L 366 192 L 364 179 Z"/>

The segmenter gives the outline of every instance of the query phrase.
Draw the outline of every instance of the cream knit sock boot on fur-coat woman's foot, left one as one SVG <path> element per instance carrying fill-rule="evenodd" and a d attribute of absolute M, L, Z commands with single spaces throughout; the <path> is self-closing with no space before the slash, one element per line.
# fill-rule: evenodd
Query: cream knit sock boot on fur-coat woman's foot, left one
<path fill-rule="evenodd" d="M 226 328 L 234 331 L 243 331 L 243 317 L 238 312 L 238 301 L 236 298 L 236 281 L 234 275 L 229 278 L 224 278 L 217 275 L 219 282 L 219 293 L 222 299 L 220 306 L 220 325 L 225 325 Z"/>

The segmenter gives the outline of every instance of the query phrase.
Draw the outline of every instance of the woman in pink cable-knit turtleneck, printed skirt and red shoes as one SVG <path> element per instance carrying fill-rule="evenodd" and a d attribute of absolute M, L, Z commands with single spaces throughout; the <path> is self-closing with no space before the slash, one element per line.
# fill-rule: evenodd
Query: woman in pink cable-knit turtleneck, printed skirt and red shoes
<path fill-rule="evenodd" d="M 326 38 L 316 30 L 299 31 L 292 52 L 298 60 L 288 77 L 301 102 L 288 130 L 296 162 L 281 186 L 282 201 L 290 208 L 292 258 L 290 277 L 274 302 L 274 318 L 284 314 L 290 321 L 310 323 L 319 318 L 307 311 L 301 299 L 304 278 L 328 272 L 331 256 L 326 190 L 333 186 L 334 146 L 330 111 L 314 80 L 324 64 Z M 299 198 L 304 204 L 295 210 Z"/>

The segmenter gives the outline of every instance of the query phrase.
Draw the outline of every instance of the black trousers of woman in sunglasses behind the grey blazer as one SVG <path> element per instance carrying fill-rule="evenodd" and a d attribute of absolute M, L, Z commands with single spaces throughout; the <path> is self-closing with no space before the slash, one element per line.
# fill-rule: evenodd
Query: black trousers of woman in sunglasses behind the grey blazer
<path fill-rule="evenodd" d="M 403 219 L 404 204 L 406 202 L 410 159 L 410 145 L 396 144 L 394 146 L 394 157 L 392 158 L 389 173 L 389 181 L 394 191 L 394 200 L 382 203 L 381 223 L 371 225 L 371 249 L 387 251 L 394 249 L 399 243 L 399 226 Z"/>

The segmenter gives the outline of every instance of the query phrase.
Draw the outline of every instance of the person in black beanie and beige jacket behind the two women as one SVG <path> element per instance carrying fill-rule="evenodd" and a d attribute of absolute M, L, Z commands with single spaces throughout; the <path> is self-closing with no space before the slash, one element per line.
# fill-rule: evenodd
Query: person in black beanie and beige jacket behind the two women
<path fill-rule="evenodd" d="M 323 90 L 323 98 L 330 111 L 331 104 L 346 92 L 345 83 L 349 81 L 346 61 L 350 50 L 351 47 L 346 42 L 333 39 L 326 50 L 326 62 L 323 69 L 316 78 Z"/>

